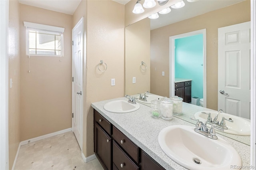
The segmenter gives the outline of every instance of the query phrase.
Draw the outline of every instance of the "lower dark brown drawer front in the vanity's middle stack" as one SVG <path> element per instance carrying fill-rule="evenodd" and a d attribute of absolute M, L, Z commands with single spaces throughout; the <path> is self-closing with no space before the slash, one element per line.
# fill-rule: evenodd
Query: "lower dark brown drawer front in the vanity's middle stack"
<path fill-rule="evenodd" d="M 113 140 L 113 163 L 119 170 L 138 170 L 139 167 L 122 151 Z"/>

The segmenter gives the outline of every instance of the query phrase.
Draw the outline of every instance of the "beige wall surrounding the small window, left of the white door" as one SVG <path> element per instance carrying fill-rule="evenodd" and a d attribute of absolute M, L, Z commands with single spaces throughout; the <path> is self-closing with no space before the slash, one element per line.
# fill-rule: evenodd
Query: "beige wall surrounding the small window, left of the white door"
<path fill-rule="evenodd" d="M 28 73 L 23 22 L 65 28 L 64 57 L 31 56 Z M 20 4 L 21 141 L 72 126 L 72 16 Z"/>

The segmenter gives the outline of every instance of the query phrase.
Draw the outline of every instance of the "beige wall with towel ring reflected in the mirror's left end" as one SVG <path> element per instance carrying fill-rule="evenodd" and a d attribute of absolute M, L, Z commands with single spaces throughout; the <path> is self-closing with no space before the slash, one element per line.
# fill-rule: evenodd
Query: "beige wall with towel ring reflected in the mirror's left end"
<path fill-rule="evenodd" d="M 147 65 L 141 65 L 144 61 Z M 143 70 L 146 69 L 146 70 Z M 136 77 L 136 83 L 132 83 Z M 150 91 L 150 19 L 125 28 L 125 94 Z"/>

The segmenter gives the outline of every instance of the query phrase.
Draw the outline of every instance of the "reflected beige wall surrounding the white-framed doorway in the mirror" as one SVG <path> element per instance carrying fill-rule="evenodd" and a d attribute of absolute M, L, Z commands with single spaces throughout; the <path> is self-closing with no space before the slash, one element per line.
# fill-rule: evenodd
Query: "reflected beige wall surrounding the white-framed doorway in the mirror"
<path fill-rule="evenodd" d="M 218 28 L 250 21 L 250 0 L 151 31 L 151 92 L 169 95 L 169 37 L 206 28 L 207 108 L 218 109 Z M 158 48 L 161 46 L 161 48 Z M 156 84 L 156 82 L 161 82 Z"/>

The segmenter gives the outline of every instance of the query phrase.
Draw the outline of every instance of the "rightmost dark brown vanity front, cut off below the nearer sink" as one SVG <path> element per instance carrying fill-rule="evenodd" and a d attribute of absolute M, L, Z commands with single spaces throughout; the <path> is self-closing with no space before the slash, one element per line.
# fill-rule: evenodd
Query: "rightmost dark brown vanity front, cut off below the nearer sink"
<path fill-rule="evenodd" d="M 155 160 L 144 151 L 141 151 L 141 170 L 164 170 Z"/>

